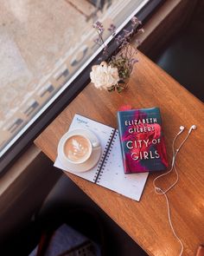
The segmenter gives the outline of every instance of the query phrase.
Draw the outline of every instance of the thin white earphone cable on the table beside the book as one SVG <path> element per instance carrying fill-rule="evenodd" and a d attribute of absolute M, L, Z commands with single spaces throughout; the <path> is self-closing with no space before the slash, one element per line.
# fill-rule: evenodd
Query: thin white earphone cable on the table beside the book
<path fill-rule="evenodd" d="M 175 228 L 174 228 L 174 226 L 173 226 L 173 224 L 172 224 L 171 215 L 170 215 L 170 207 L 169 207 L 169 199 L 168 199 L 167 193 L 168 193 L 169 190 L 170 190 L 171 188 L 173 188 L 173 187 L 175 186 L 175 184 L 179 181 L 179 175 L 178 175 L 178 172 L 177 172 L 176 167 L 175 167 L 175 159 L 176 159 L 176 156 L 177 156 L 179 150 L 182 148 L 182 145 L 187 141 L 188 136 L 190 135 L 190 133 L 191 133 L 191 131 L 188 132 L 188 135 L 187 135 L 186 138 L 182 141 L 182 143 L 181 143 L 181 145 L 179 146 L 179 148 L 177 148 L 176 150 L 175 150 L 175 140 L 176 140 L 177 137 L 181 134 L 181 132 L 179 132 L 179 133 L 175 136 L 175 138 L 174 138 L 174 140 L 173 140 L 173 142 L 172 142 L 172 153 L 173 153 L 173 156 L 172 156 L 171 167 L 170 167 L 170 169 L 169 169 L 169 171 L 168 171 L 167 173 L 161 174 L 161 175 L 157 176 L 157 177 L 154 179 L 154 181 L 153 181 L 153 186 L 154 186 L 154 188 L 155 188 L 156 194 L 162 194 L 162 195 L 164 195 L 164 197 L 165 197 L 165 199 L 166 199 L 166 202 L 167 202 L 167 211 L 168 211 L 168 219 L 169 219 L 169 225 L 170 225 L 170 227 L 171 227 L 172 232 L 173 232 L 174 235 L 175 235 L 176 240 L 178 240 L 178 242 L 179 242 L 180 245 L 181 245 L 181 252 L 179 253 L 179 256 L 181 256 L 182 253 L 183 253 L 183 244 L 182 244 L 182 240 L 181 240 L 181 239 L 178 237 L 178 235 L 175 233 Z M 173 169 L 175 169 L 175 174 L 176 174 L 175 182 L 174 182 L 169 188 L 167 188 L 167 189 L 164 190 L 164 191 L 163 191 L 163 189 L 162 189 L 161 187 L 156 187 L 156 180 L 158 180 L 158 179 L 160 179 L 161 177 L 163 177 L 163 176 L 165 176 L 165 175 L 171 173 L 171 171 L 172 171 Z"/>

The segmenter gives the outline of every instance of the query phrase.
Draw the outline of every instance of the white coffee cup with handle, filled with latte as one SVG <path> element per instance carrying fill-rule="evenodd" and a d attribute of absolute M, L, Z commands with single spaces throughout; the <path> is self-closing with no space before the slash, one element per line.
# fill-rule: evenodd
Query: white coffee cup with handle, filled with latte
<path fill-rule="evenodd" d="M 86 129 L 75 129 L 63 135 L 58 147 L 58 154 L 71 164 L 83 164 L 89 160 L 92 151 L 99 147 L 99 141 L 90 138 Z"/>

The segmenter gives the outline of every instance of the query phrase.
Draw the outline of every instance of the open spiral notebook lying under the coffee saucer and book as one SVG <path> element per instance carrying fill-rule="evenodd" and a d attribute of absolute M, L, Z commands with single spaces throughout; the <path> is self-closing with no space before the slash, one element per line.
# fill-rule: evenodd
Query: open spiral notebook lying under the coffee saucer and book
<path fill-rule="evenodd" d="M 69 130 L 88 128 L 99 138 L 102 154 L 95 167 L 84 173 L 67 170 L 57 157 L 54 167 L 80 176 L 99 186 L 106 187 L 133 200 L 140 200 L 148 173 L 124 174 L 118 129 L 109 127 L 82 115 L 74 115 Z"/>

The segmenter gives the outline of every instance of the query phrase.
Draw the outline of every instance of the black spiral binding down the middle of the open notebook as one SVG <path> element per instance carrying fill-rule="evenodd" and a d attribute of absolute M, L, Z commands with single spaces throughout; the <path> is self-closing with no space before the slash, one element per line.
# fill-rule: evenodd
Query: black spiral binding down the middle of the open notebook
<path fill-rule="evenodd" d="M 112 147 L 114 142 L 116 141 L 116 136 L 118 135 L 118 130 L 117 129 L 112 129 L 112 133 L 107 141 L 107 144 L 105 146 L 105 150 L 101 156 L 101 159 L 99 161 L 99 166 L 97 167 L 96 173 L 93 177 L 93 182 L 94 183 L 99 183 L 100 178 L 104 172 L 105 165 L 108 161 L 108 158 L 110 154 L 112 153 Z"/>

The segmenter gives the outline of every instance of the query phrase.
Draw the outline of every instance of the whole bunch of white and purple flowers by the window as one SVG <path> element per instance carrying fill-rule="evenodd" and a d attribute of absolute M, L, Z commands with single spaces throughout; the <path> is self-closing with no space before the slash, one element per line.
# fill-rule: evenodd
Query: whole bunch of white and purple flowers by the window
<path fill-rule="evenodd" d="M 130 77 L 133 66 L 138 60 L 135 58 L 137 49 L 133 48 L 130 44 L 131 36 L 137 33 L 143 33 L 143 29 L 137 29 L 141 22 L 137 17 L 131 19 L 131 30 L 123 30 L 123 35 L 116 36 L 116 27 L 111 24 L 108 30 L 111 32 L 112 38 L 118 44 L 120 50 L 117 55 L 113 55 L 108 58 L 108 48 L 103 40 L 104 27 L 100 22 L 93 24 L 93 28 L 97 30 L 98 37 L 94 39 L 94 42 L 103 46 L 104 59 L 108 59 L 107 62 L 101 62 L 100 65 L 92 67 L 90 77 L 96 88 L 108 89 L 109 91 L 117 90 L 120 93 L 126 88 L 125 80 Z M 137 45 L 138 45 L 137 41 Z M 100 57 L 99 60 L 102 60 Z"/>

